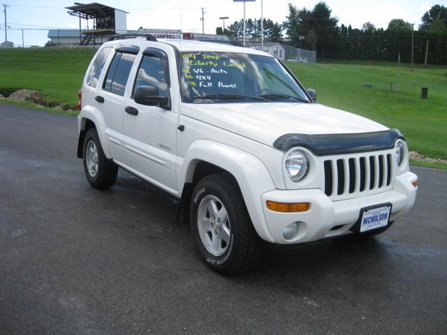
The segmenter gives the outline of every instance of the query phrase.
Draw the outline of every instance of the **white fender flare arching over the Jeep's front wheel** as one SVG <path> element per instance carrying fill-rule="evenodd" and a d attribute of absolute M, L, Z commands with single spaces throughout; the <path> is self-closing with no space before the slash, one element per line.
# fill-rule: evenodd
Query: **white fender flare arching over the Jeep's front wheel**
<path fill-rule="evenodd" d="M 265 241 L 274 242 L 265 223 L 261 194 L 274 190 L 275 186 L 267 168 L 258 158 L 226 144 L 196 140 L 189 146 L 183 160 L 182 158 L 179 160 L 177 165 L 179 190 L 183 189 L 184 183 L 192 181 L 194 169 L 199 161 L 212 163 L 233 174 L 256 232 Z"/>

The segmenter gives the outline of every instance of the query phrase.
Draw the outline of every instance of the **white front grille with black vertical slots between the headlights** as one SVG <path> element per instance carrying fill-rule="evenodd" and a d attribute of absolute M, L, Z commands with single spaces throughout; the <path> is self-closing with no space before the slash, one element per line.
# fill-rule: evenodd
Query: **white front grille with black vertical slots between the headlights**
<path fill-rule="evenodd" d="M 349 195 L 376 191 L 390 185 L 391 154 L 324 161 L 325 194 Z"/>

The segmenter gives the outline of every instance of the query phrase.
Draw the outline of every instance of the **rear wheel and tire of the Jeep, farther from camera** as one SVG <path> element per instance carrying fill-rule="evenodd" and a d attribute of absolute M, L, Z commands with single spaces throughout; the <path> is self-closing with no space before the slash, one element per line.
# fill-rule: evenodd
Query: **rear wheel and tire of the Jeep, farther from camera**
<path fill-rule="evenodd" d="M 104 155 L 95 128 L 90 128 L 84 138 L 84 170 L 90 185 L 100 190 L 110 188 L 117 180 L 118 167 Z"/>

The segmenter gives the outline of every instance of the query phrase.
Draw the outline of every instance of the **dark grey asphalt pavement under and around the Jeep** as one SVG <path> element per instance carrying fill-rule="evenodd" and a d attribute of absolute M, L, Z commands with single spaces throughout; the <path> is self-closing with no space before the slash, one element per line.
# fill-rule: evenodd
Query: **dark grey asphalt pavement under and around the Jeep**
<path fill-rule="evenodd" d="M 0 104 L 0 334 L 447 334 L 447 171 L 385 233 L 199 259 L 179 202 L 120 171 L 91 188 L 75 117 Z"/>

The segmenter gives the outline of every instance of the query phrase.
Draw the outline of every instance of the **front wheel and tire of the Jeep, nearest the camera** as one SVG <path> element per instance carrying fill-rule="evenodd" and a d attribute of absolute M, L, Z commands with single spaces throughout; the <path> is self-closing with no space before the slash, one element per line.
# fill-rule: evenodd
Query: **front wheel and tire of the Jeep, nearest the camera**
<path fill-rule="evenodd" d="M 191 195 L 189 215 L 200 258 L 219 274 L 247 271 L 261 258 L 261 238 L 230 174 L 211 174 L 201 179 Z M 215 238 L 221 241 L 214 244 Z"/>

